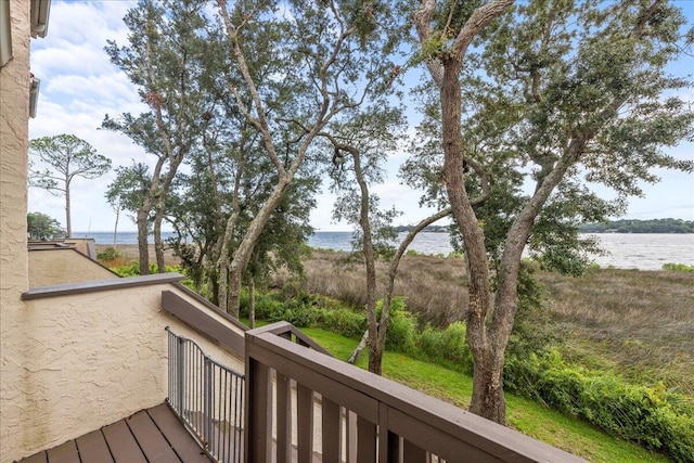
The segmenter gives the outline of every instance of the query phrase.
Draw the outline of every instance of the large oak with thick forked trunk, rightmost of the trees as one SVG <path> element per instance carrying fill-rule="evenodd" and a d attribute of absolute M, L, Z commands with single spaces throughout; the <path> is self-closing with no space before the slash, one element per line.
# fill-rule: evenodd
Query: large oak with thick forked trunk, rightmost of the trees
<path fill-rule="evenodd" d="M 691 138 L 694 120 L 678 97 L 690 83 L 666 69 L 687 46 L 677 7 L 512 3 L 465 10 L 428 0 L 414 15 L 439 104 L 432 115 L 439 117 L 440 181 L 466 256 L 471 411 L 499 423 L 524 250 L 578 272 L 578 223 L 624 210 L 629 195 L 641 194 L 639 182 L 657 180 L 657 168 L 694 168 L 663 151 Z M 507 201 L 493 204 L 492 194 L 473 204 L 479 176 L 471 163 L 493 173 Z M 601 198 L 597 183 L 616 200 Z"/>

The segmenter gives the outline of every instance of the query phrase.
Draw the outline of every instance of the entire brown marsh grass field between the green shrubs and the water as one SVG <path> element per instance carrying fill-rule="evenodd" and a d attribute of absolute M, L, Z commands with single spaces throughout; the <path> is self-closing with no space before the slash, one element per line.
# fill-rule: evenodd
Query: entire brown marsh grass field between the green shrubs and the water
<path fill-rule="evenodd" d="M 363 270 L 339 266 L 340 257 L 344 253 L 314 250 L 305 262 L 303 285 L 363 307 Z M 386 272 L 387 265 L 380 263 L 380 294 Z M 566 360 L 615 372 L 633 384 L 663 382 L 694 400 L 693 273 L 593 269 L 581 278 L 542 271 L 536 276 L 543 308 L 526 321 L 560 339 Z M 421 325 L 444 327 L 464 319 L 464 282 L 460 258 L 410 255 L 400 266 L 396 295 L 406 297 Z"/>

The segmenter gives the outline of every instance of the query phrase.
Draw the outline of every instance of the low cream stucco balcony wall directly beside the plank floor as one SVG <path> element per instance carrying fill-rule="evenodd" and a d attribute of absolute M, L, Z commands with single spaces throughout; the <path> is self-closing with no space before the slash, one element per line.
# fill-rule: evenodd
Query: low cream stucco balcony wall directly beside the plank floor
<path fill-rule="evenodd" d="M 18 331 L 8 339 L 12 353 L 7 358 L 22 369 L 8 393 L 20 397 L 25 391 L 26 398 L 5 416 L 10 426 L 2 462 L 163 402 L 167 396 L 165 326 L 197 340 L 213 358 L 243 372 L 243 359 L 160 309 L 165 290 L 195 304 L 172 284 L 26 301 Z"/>

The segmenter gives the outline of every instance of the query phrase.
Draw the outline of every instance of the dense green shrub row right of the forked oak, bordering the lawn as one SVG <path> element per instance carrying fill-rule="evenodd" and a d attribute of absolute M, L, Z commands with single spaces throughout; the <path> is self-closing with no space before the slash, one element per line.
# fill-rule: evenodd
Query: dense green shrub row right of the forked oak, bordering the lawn
<path fill-rule="evenodd" d="M 609 372 L 568 365 L 556 351 L 509 359 L 504 376 L 509 389 L 665 452 L 674 461 L 694 461 L 694 409 L 661 383 L 631 385 Z"/>

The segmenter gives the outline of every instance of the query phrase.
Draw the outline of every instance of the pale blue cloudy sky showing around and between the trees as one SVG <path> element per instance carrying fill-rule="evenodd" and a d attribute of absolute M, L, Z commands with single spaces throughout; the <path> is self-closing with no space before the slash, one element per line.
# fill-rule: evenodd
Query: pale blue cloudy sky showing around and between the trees
<path fill-rule="evenodd" d="M 694 23 L 694 0 L 677 0 Z M 29 123 L 30 139 L 73 133 L 89 142 L 100 154 L 113 162 L 113 167 L 128 166 L 132 159 L 154 165 L 154 157 L 133 144 L 127 137 L 101 130 L 104 115 L 139 114 L 147 111 L 124 73 L 114 66 L 104 51 L 106 40 L 126 44 L 128 29 L 123 17 L 132 2 L 52 0 L 48 35 L 31 40 L 31 73 L 41 80 L 37 117 Z M 694 59 L 687 56 L 672 67 L 684 75 L 694 72 Z M 694 91 L 684 95 L 694 103 Z M 694 158 L 694 143 L 682 143 L 669 151 L 682 159 Z M 402 215 L 396 224 L 414 224 L 432 210 L 419 207 L 420 192 L 400 184 L 399 164 L 406 158 L 396 153 L 388 162 L 384 183 L 372 191 L 384 207 L 395 207 Z M 680 218 L 694 220 L 694 176 L 669 170 L 659 171 L 663 181 L 644 185 L 645 197 L 632 198 L 627 219 Z M 106 185 L 115 172 L 95 179 L 76 178 L 72 184 L 73 232 L 110 231 L 114 229 L 115 211 L 104 198 Z M 326 191 L 326 188 L 324 189 Z M 318 197 L 311 215 L 311 226 L 322 231 L 350 230 L 347 223 L 333 222 L 334 197 L 326 192 Z M 43 213 L 65 226 L 65 200 L 46 190 L 29 188 L 29 211 Z M 170 226 L 169 226 L 170 227 Z M 137 227 L 124 214 L 118 231 L 136 231 Z"/>

